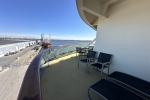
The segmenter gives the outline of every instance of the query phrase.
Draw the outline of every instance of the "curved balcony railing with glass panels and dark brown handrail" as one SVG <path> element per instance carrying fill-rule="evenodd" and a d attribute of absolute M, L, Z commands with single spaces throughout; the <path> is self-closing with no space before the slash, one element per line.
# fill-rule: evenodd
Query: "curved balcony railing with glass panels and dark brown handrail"
<path fill-rule="evenodd" d="M 42 100 L 40 78 L 46 69 L 47 62 L 64 54 L 76 51 L 76 47 L 88 47 L 89 44 L 61 45 L 41 51 L 29 65 L 17 100 Z"/>

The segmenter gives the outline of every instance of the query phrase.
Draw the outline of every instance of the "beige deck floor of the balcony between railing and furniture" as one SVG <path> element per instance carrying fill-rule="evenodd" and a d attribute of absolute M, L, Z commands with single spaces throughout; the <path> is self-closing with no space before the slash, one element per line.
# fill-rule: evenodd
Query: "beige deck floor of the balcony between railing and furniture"
<path fill-rule="evenodd" d="M 91 68 L 87 74 L 86 65 L 80 63 L 77 68 L 77 61 L 71 54 L 50 62 L 41 78 L 43 100 L 89 100 L 87 90 L 99 81 L 100 72 Z M 92 98 L 100 99 L 96 95 Z"/>

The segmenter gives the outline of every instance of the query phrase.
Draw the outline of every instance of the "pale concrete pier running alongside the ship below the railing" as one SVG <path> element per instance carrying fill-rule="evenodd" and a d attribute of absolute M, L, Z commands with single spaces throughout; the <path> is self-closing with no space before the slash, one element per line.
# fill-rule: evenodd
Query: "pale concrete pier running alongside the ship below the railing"
<path fill-rule="evenodd" d="M 31 49 L 31 48 L 30 48 Z M 39 53 L 38 50 L 31 49 L 18 59 L 10 63 L 9 67 L 3 72 L 0 72 L 0 99 L 1 100 L 16 100 L 24 75 L 30 62 Z"/>

